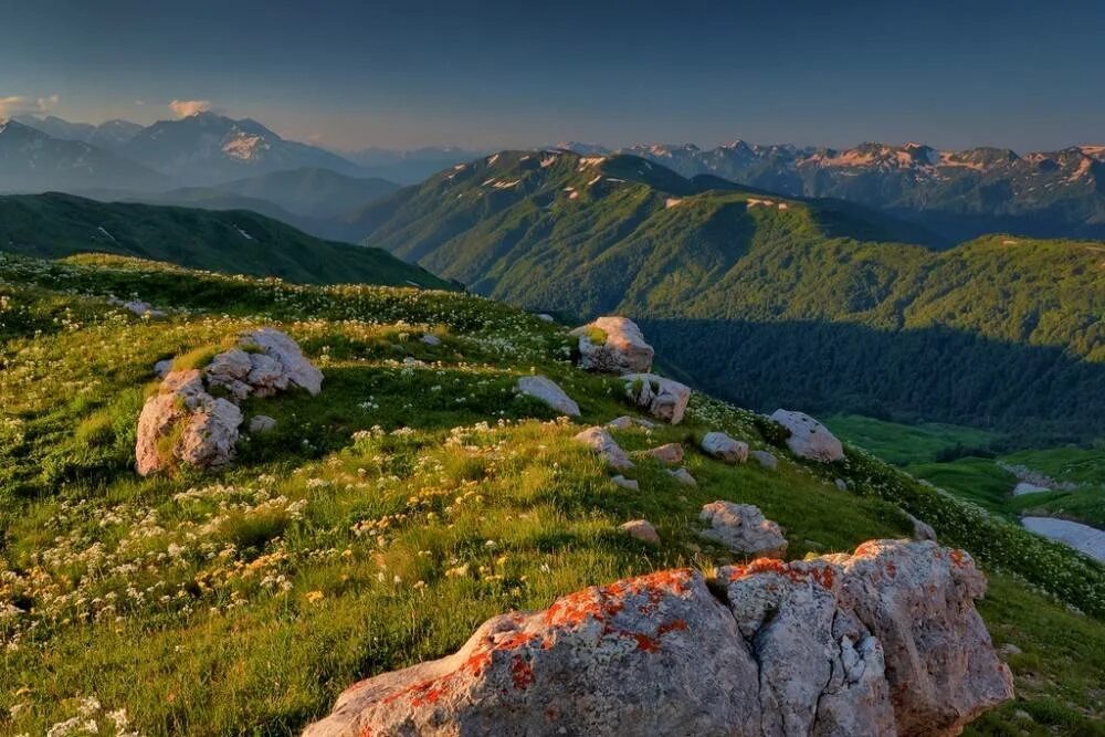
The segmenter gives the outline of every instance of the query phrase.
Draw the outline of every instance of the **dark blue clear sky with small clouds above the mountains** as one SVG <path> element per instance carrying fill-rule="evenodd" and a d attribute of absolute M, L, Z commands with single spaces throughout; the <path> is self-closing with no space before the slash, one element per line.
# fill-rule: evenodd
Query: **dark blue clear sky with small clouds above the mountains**
<path fill-rule="evenodd" d="M 1105 3 L 0 0 L 0 117 L 335 149 L 1105 143 Z"/>

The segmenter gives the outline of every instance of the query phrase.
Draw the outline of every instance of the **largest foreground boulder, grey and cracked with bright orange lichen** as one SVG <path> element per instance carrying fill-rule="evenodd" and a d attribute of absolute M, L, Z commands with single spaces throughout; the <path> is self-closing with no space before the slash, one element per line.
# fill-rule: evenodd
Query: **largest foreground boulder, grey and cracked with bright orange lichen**
<path fill-rule="evenodd" d="M 854 555 L 591 587 L 485 622 L 454 655 L 348 688 L 306 737 L 955 735 L 1012 696 L 959 550 Z"/>

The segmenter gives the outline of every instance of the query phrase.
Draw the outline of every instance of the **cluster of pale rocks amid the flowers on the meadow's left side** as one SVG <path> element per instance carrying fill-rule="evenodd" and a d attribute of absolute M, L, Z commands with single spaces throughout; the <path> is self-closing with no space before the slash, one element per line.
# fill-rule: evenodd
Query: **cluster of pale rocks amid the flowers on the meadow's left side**
<path fill-rule="evenodd" d="M 302 388 L 317 394 L 323 373 L 304 358 L 292 338 L 271 328 L 242 334 L 234 347 L 218 354 L 202 368 L 172 370 L 159 361 L 162 376 L 157 393 L 146 400 L 138 418 L 135 445 L 141 475 L 188 465 L 219 467 L 234 457 L 242 410 L 248 397 L 270 397 Z M 225 393 L 229 398 L 217 397 Z M 251 433 L 272 430 L 266 415 L 251 419 Z"/>

